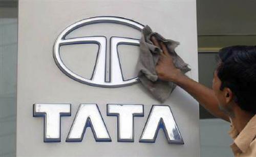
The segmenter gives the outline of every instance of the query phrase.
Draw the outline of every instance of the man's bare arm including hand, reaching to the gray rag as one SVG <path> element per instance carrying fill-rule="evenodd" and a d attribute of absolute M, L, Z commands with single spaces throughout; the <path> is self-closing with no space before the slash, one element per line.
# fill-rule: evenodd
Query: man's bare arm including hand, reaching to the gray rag
<path fill-rule="evenodd" d="M 219 109 L 219 103 L 212 89 L 188 78 L 177 69 L 173 63 L 173 58 L 163 42 L 158 43 L 156 38 L 152 37 L 153 43 L 162 49 L 156 71 L 159 79 L 171 81 L 182 87 L 186 92 L 193 96 L 205 109 L 212 115 L 229 122 L 229 117 Z"/>

